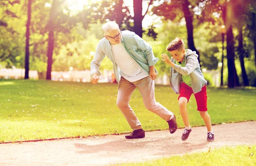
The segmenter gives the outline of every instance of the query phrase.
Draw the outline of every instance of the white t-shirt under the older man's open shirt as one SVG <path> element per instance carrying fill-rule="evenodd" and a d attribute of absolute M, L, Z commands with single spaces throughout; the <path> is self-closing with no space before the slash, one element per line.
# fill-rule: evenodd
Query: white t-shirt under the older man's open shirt
<path fill-rule="evenodd" d="M 135 82 L 148 76 L 148 73 L 127 53 L 122 43 L 112 45 L 111 48 L 116 65 L 120 68 L 120 75 L 129 82 Z"/>

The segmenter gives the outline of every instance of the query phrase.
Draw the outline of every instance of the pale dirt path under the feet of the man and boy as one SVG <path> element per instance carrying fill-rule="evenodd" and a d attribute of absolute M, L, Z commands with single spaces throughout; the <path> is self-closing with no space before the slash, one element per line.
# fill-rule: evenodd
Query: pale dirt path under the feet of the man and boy
<path fill-rule="evenodd" d="M 99 138 L 0 144 L 0 166 L 102 166 L 145 161 L 198 152 L 221 146 L 255 145 L 256 121 L 213 126 L 215 141 L 206 141 L 206 127 L 193 127 L 187 141 L 183 129 L 146 132 L 146 137 L 128 140 L 124 135 Z"/>

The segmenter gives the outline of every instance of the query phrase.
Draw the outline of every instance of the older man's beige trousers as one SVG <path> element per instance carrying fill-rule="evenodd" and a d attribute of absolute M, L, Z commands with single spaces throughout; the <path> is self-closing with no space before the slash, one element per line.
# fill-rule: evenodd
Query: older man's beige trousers
<path fill-rule="evenodd" d="M 154 97 L 154 80 L 151 80 L 148 76 L 136 82 L 129 82 L 121 76 L 116 105 L 122 111 L 132 129 L 142 129 L 139 119 L 129 105 L 131 94 L 134 92 L 136 87 L 138 87 L 138 90 L 143 97 L 144 105 L 149 111 L 159 115 L 166 121 L 173 118 L 173 113 L 171 111 L 156 102 Z"/>

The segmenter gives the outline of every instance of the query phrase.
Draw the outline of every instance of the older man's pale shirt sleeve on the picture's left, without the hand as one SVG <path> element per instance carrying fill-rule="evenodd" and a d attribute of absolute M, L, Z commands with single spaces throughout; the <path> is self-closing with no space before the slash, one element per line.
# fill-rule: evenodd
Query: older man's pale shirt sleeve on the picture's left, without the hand
<path fill-rule="evenodd" d="M 98 76 L 102 74 L 99 72 L 100 63 L 105 58 L 105 53 L 100 49 L 100 43 L 96 47 L 96 51 L 93 57 L 92 62 L 90 63 L 91 77 L 93 73 L 96 73 Z"/>

